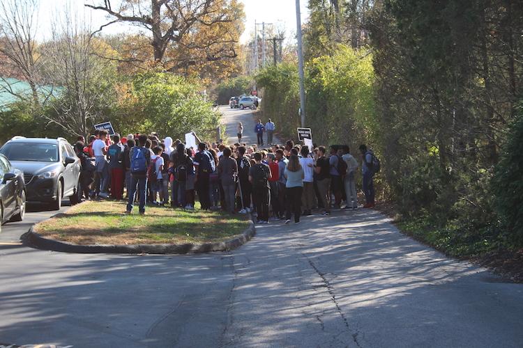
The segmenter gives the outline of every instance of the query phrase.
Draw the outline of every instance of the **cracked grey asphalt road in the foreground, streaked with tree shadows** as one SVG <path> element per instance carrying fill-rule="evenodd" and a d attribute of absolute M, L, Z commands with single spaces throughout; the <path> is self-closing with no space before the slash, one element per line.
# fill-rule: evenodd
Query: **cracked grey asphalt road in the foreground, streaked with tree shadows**
<path fill-rule="evenodd" d="M 73 347 L 521 347 L 523 285 L 377 212 L 259 226 L 237 251 L 0 247 L 0 342 Z"/>

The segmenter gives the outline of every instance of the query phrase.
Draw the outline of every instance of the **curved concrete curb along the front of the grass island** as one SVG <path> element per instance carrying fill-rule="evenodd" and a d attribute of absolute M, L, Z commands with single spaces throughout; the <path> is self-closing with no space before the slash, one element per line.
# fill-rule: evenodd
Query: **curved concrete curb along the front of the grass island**
<path fill-rule="evenodd" d="M 116 253 L 116 254 L 188 254 L 188 253 L 210 253 L 211 251 L 229 251 L 239 248 L 248 242 L 256 234 L 255 224 L 249 221 L 249 227 L 236 238 L 225 242 L 203 243 L 203 244 L 132 244 L 132 245 L 78 245 L 67 242 L 59 242 L 54 239 L 42 237 L 33 231 L 22 236 L 24 244 L 34 248 L 59 251 L 61 253 Z"/>

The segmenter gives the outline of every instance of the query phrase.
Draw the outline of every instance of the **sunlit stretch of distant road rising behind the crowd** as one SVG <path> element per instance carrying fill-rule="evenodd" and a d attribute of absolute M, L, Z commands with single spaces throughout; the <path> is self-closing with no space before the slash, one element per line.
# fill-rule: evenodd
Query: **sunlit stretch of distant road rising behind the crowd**
<path fill-rule="evenodd" d="M 220 111 L 223 114 L 222 122 L 227 127 L 226 133 L 229 135 L 229 143 L 238 142 L 238 137 L 236 136 L 238 133 L 238 122 L 242 122 L 243 124 L 243 136 L 241 139 L 242 143 L 246 143 L 248 145 L 256 143 L 256 122 L 250 109 L 241 110 L 231 109 L 229 106 L 220 106 Z M 261 122 L 264 122 L 265 124 L 267 120 L 261 120 Z M 276 129 L 278 129 L 278 125 L 276 125 Z M 265 142 L 267 141 L 267 134 L 264 134 L 264 140 Z M 278 144 L 282 143 L 280 139 L 278 139 L 278 136 L 273 136 L 273 142 Z"/>

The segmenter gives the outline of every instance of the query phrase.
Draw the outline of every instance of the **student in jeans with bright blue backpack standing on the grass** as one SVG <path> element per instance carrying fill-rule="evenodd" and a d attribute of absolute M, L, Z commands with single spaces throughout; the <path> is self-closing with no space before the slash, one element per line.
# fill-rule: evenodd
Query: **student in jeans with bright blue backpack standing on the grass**
<path fill-rule="evenodd" d="M 139 213 L 145 214 L 145 203 L 147 196 L 147 168 L 151 163 L 151 152 L 145 148 L 147 136 L 140 135 L 138 138 L 139 146 L 130 150 L 130 173 L 131 184 L 130 194 L 127 203 L 126 214 L 132 212 L 132 205 L 135 202 L 135 194 L 139 192 Z"/>

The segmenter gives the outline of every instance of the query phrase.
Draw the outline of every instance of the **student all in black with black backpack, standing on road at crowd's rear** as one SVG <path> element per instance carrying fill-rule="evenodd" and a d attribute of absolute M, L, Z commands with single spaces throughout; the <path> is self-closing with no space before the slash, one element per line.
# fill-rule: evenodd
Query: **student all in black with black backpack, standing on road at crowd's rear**
<path fill-rule="evenodd" d="M 271 179 L 271 169 L 261 163 L 261 158 L 261 153 L 256 152 L 255 165 L 249 171 L 249 181 L 252 184 L 252 198 L 258 214 L 257 223 L 268 223 L 268 204 L 271 201 L 268 180 Z"/>

